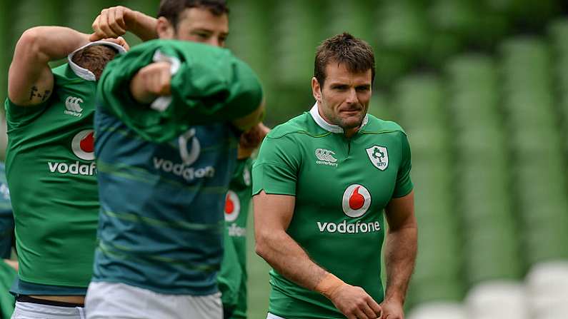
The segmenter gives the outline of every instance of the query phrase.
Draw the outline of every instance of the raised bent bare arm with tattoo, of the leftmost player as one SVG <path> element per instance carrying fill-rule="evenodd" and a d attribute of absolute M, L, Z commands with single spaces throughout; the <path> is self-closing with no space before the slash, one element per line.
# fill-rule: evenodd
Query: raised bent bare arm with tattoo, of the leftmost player
<path fill-rule="evenodd" d="M 37 26 L 21 35 L 8 74 L 8 97 L 19 106 L 46 101 L 54 86 L 49 61 L 87 44 L 89 36 L 61 26 Z"/>

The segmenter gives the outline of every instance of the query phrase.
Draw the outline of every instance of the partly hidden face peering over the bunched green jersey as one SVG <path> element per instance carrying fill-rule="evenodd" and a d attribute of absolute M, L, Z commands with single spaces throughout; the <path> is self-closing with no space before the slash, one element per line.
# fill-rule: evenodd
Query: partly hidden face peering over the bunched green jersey
<path fill-rule="evenodd" d="M 226 14 L 216 16 L 208 9 L 189 8 L 180 15 L 174 39 L 225 46 L 228 35 L 229 18 Z"/>

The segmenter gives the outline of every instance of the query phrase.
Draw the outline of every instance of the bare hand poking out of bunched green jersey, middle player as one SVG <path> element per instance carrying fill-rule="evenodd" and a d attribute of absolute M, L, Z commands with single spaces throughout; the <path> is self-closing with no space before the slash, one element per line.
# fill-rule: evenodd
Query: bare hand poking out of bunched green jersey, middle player
<path fill-rule="evenodd" d="M 130 91 L 139 103 L 151 103 L 158 96 L 171 94 L 171 64 L 155 62 L 144 66 L 132 78 Z"/>

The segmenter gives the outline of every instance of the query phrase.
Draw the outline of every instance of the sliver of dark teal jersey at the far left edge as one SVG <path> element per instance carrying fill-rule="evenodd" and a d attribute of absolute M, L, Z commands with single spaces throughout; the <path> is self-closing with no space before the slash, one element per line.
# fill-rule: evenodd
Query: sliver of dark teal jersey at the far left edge
<path fill-rule="evenodd" d="M 4 163 L 0 163 L 0 258 L 9 259 L 14 243 L 14 215 Z"/>

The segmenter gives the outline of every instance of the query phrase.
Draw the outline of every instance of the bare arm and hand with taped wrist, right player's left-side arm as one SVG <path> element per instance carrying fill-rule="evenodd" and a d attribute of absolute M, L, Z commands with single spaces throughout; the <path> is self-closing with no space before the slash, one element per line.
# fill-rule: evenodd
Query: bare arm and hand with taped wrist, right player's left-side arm
<path fill-rule="evenodd" d="M 377 318 L 380 306 L 360 287 L 344 283 L 312 261 L 288 235 L 296 198 L 261 191 L 254 196 L 256 253 L 281 275 L 329 298 L 349 319 Z"/>

